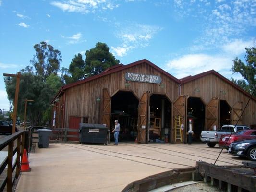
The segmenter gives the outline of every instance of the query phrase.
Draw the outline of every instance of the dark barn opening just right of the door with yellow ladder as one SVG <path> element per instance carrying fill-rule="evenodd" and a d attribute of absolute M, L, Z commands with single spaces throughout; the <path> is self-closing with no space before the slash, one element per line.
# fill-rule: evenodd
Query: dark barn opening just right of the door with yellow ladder
<path fill-rule="evenodd" d="M 200 133 L 205 126 L 205 105 L 200 98 L 189 97 L 187 101 L 187 121 L 192 119 L 193 140 L 200 141 Z M 187 131 L 188 131 L 187 122 Z"/>

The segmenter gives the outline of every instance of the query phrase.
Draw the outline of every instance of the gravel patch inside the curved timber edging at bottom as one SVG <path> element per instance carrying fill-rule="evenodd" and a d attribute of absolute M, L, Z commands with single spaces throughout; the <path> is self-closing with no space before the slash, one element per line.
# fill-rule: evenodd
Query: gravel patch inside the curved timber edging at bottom
<path fill-rule="evenodd" d="M 170 190 L 169 192 L 225 192 L 219 190 L 217 187 L 212 187 L 208 183 L 200 182 L 194 185 L 187 185 L 177 189 Z"/>

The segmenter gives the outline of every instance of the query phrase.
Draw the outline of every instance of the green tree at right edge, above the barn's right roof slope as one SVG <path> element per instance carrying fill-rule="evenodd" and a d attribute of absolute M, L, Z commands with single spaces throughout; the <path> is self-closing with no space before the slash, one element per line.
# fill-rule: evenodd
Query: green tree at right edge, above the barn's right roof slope
<path fill-rule="evenodd" d="M 240 73 L 245 79 L 245 81 L 237 80 L 234 83 L 245 91 L 252 93 L 256 85 L 256 48 L 245 48 L 245 50 L 246 64 L 236 57 L 233 60 L 232 71 Z M 256 93 L 254 93 L 254 96 L 256 96 Z"/>

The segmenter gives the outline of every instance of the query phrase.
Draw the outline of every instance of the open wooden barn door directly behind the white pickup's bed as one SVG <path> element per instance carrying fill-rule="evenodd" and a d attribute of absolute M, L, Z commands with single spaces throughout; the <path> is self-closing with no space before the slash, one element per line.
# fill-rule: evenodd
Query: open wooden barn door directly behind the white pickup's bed
<path fill-rule="evenodd" d="M 206 130 L 219 129 L 219 98 L 213 98 L 206 106 Z"/>

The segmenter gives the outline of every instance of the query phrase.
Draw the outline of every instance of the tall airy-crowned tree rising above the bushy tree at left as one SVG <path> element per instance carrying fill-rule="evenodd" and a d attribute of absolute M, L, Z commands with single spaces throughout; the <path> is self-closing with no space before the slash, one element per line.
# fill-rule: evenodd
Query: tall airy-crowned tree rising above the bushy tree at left
<path fill-rule="evenodd" d="M 43 77 L 43 81 L 51 74 L 57 75 L 62 61 L 61 52 L 42 41 L 34 45 L 36 54 L 30 63 L 35 67 L 36 74 Z"/>

